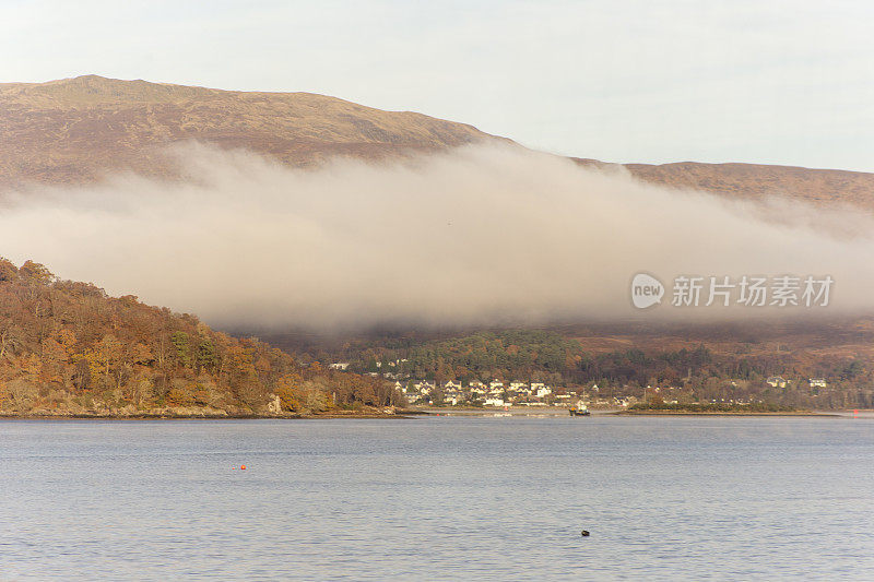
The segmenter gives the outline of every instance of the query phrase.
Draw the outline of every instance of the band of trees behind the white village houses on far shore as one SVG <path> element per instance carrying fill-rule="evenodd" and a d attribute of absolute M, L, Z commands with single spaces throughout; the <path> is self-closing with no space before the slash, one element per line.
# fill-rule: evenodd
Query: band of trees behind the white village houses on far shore
<path fill-rule="evenodd" d="M 680 349 L 586 349 L 552 330 L 483 331 L 437 340 L 370 341 L 344 354 L 350 369 L 399 377 L 456 380 L 543 381 L 568 388 L 599 387 L 605 395 L 642 394 L 647 385 L 677 387 L 699 399 L 769 399 L 823 407 L 874 406 L 874 366 L 865 357 L 764 352 L 716 354 L 705 344 Z M 787 388 L 766 380 L 782 376 Z M 826 389 L 811 389 L 825 378 Z M 818 399 L 818 400 L 817 400 Z"/>

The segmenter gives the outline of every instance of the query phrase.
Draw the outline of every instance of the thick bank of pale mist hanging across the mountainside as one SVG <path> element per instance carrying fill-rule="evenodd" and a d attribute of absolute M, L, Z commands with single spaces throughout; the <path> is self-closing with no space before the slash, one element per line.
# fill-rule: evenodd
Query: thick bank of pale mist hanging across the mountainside
<path fill-rule="evenodd" d="M 0 254 L 224 328 L 735 319 L 778 308 L 674 308 L 678 274 L 830 275 L 828 307 L 871 312 L 874 218 L 646 185 L 511 145 L 394 164 L 288 168 L 187 144 L 184 179 L 120 174 L 0 198 Z M 637 310 L 638 272 L 666 287 Z M 818 311 L 817 311 L 818 309 Z"/>

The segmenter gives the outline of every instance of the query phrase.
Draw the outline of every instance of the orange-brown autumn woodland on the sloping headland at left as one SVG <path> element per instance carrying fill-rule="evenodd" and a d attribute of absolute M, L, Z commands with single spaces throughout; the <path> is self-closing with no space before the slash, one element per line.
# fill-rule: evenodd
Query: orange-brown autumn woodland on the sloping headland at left
<path fill-rule="evenodd" d="M 0 413 L 251 416 L 399 403 L 382 379 L 299 365 L 191 314 L 0 259 Z"/>

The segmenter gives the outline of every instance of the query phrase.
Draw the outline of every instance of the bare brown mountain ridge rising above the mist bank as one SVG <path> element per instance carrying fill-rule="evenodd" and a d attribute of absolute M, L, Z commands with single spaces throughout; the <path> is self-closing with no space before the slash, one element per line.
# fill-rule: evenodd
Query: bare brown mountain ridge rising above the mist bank
<path fill-rule="evenodd" d="M 88 182 L 117 169 L 173 176 L 174 163 L 162 155 L 162 146 L 186 140 L 247 147 L 296 167 L 336 155 L 379 161 L 509 141 L 464 123 L 312 93 L 220 91 L 96 75 L 0 84 L 0 187 Z M 874 174 L 694 162 L 625 167 L 641 180 L 669 187 L 874 211 Z"/>

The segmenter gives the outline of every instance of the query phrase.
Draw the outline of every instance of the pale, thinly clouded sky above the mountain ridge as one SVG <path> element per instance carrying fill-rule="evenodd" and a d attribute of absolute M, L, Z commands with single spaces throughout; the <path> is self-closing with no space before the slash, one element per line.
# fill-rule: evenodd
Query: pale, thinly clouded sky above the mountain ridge
<path fill-rule="evenodd" d="M 870 1 L 0 0 L 0 82 L 307 91 L 610 162 L 874 171 Z"/>

